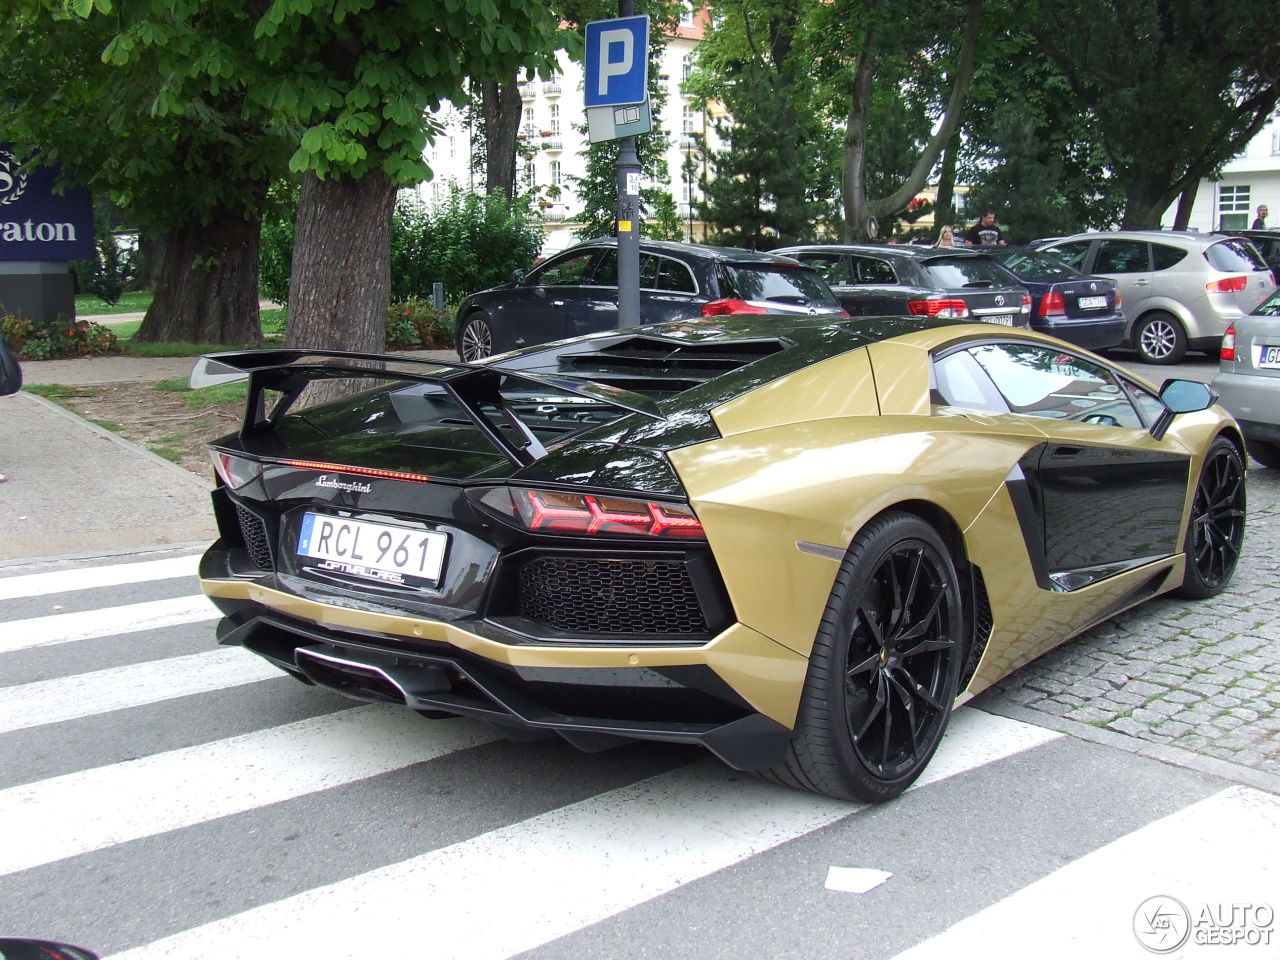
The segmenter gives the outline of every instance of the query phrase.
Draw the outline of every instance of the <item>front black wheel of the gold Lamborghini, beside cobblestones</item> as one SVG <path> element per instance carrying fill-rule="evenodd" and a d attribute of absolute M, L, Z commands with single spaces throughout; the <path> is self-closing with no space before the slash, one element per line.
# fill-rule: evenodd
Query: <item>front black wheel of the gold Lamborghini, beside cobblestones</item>
<path fill-rule="evenodd" d="M 1219 436 L 1196 483 L 1183 596 L 1213 596 L 1231 581 L 1244 543 L 1244 458 L 1234 443 Z"/>

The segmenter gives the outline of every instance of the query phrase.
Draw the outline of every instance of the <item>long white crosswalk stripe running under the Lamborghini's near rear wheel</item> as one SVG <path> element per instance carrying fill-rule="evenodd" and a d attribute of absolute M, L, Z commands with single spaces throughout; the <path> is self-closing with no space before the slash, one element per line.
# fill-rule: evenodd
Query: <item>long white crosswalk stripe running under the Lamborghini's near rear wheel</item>
<path fill-rule="evenodd" d="M 932 783 L 1060 736 L 978 710 L 952 718 Z M 125 951 L 113 960 L 401 955 L 506 957 L 662 896 L 859 808 L 705 762 L 403 863 Z M 358 923 L 334 923 L 335 916 Z M 426 948 L 426 947 L 424 947 Z"/>

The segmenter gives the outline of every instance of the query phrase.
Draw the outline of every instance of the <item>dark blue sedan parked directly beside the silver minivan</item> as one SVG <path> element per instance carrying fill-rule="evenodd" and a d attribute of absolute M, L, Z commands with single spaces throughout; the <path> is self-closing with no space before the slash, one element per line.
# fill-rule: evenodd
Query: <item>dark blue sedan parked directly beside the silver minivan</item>
<path fill-rule="evenodd" d="M 1032 329 L 1103 349 L 1124 340 L 1125 316 L 1115 280 L 1082 274 L 1030 247 L 995 247 L 988 255 L 1032 294 Z"/>

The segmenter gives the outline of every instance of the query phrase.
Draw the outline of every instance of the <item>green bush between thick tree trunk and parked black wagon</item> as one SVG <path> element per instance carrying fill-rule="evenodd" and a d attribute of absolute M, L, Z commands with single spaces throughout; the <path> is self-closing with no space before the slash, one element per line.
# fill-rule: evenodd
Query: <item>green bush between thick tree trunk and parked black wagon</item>
<path fill-rule="evenodd" d="M 433 283 L 457 301 L 527 269 L 543 238 L 526 215 L 499 195 L 451 192 L 434 209 L 402 197 L 392 220 L 392 302 L 430 300 Z"/>

